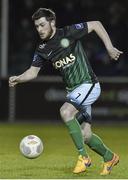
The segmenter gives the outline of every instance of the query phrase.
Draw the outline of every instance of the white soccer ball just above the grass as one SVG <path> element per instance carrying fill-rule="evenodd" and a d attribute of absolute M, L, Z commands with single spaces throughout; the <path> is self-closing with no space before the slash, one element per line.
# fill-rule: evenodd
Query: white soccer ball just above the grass
<path fill-rule="evenodd" d="M 43 142 L 35 135 L 25 136 L 20 142 L 20 151 L 26 158 L 37 158 L 43 152 Z"/>

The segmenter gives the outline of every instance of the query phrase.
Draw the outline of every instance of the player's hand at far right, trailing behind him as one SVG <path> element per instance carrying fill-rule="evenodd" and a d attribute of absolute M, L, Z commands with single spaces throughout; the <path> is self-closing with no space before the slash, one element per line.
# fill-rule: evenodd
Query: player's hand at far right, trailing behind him
<path fill-rule="evenodd" d="M 123 52 L 119 51 L 115 47 L 112 47 L 112 48 L 108 49 L 108 54 L 111 57 L 111 59 L 114 59 L 117 61 L 119 59 L 120 55 L 123 54 Z"/>

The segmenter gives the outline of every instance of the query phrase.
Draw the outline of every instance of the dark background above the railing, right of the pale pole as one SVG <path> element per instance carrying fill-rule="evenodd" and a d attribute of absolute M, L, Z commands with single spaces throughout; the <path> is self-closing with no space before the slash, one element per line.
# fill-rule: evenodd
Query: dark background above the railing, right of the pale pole
<path fill-rule="evenodd" d="M 31 20 L 39 7 L 56 12 L 57 27 L 83 21 L 101 21 L 115 47 L 124 54 L 118 62 L 110 61 L 106 49 L 95 33 L 83 38 L 88 58 L 98 76 L 128 75 L 128 1 L 114 0 L 10 0 L 9 74 L 23 72 L 31 65 L 38 40 Z M 50 66 L 41 74 L 57 74 Z"/>

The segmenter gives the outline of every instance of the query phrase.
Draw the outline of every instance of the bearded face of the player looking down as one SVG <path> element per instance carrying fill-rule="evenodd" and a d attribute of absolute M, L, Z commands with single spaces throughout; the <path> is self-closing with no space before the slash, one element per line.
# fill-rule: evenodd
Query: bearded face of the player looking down
<path fill-rule="evenodd" d="M 48 40 L 53 34 L 53 22 L 45 17 L 35 20 L 35 26 L 42 40 Z"/>

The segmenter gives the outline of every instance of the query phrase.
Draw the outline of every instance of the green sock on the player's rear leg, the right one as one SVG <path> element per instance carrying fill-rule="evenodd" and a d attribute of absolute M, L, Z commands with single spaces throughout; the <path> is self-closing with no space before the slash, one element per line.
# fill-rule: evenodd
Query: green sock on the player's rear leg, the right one
<path fill-rule="evenodd" d="M 96 135 L 93 134 L 87 145 L 96 153 L 101 155 L 105 162 L 110 161 L 113 157 L 113 152 L 105 146 L 103 141 Z"/>

